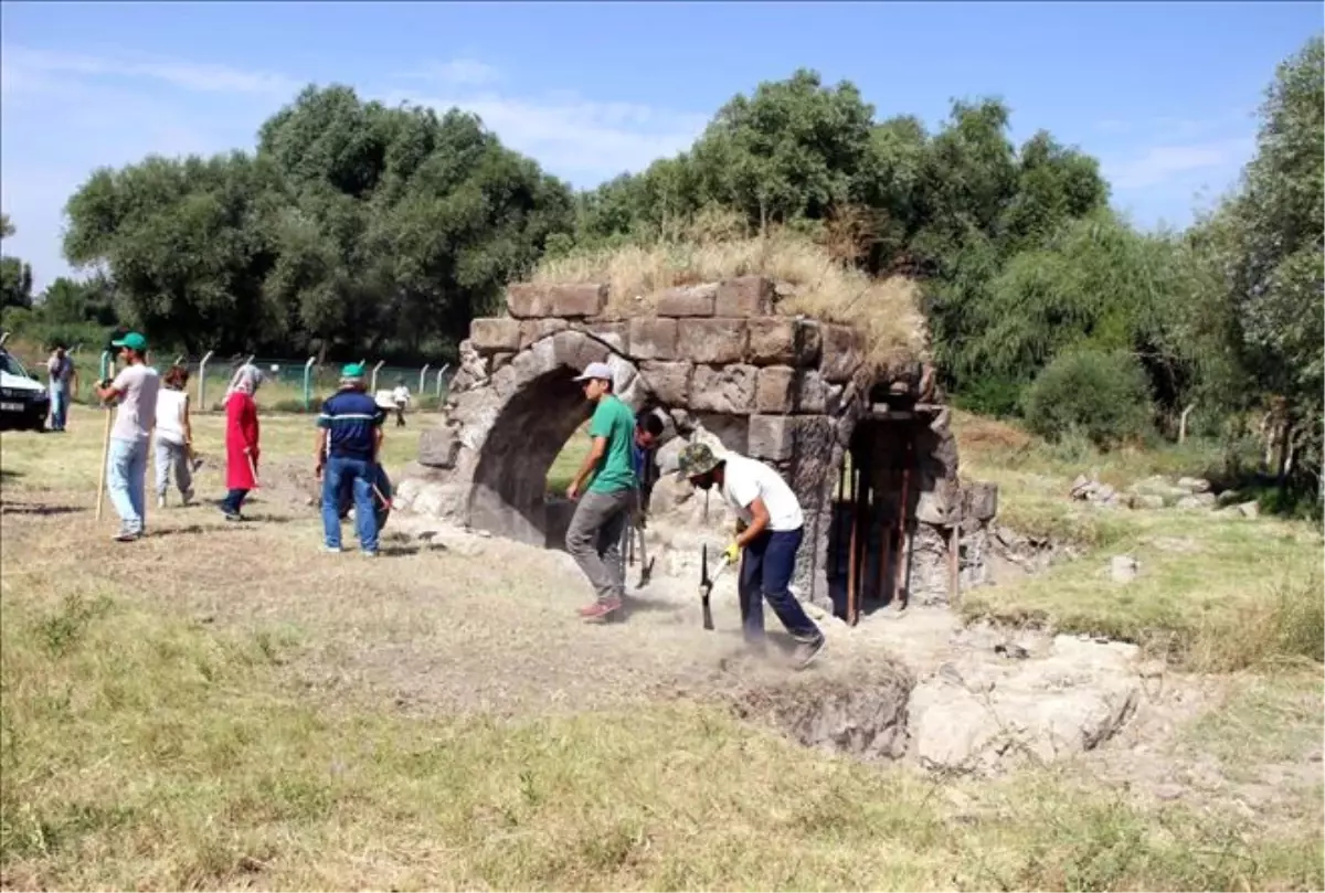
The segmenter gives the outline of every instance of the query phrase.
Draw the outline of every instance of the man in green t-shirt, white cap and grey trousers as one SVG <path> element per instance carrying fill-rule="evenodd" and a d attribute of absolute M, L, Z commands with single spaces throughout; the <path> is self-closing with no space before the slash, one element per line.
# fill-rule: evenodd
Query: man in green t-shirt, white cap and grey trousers
<path fill-rule="evenodd" d="M 588 423 L 591 448 L 566 496 L 578 501 L 566 531 L 566 550 L 594 586 L 598 600 L 580 608 L 586 620 L 613 620 L 625 595 L 621 533 L 629 521 L 635 493 L 635 413 L 612 394 L 612 367 L 590 363 L 575 379 L 596 404 Z M 584 482 L 594 477 L 588 490 Z"/>

